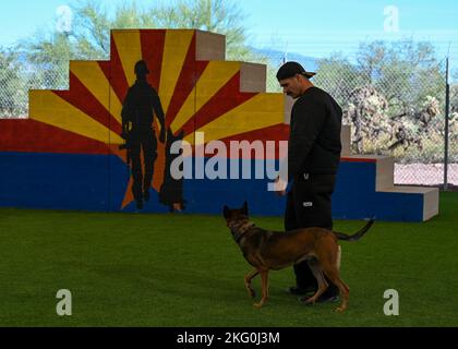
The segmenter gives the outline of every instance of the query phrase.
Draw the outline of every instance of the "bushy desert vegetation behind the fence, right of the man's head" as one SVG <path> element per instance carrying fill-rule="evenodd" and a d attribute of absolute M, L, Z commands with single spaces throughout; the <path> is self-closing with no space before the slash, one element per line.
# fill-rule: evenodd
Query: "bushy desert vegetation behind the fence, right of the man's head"
<path fill-rule="evenodd" d="M 445 77 L 432 44 L 363 43 L 353 61 L 341 55 L 320 60 L 315 82 L 343 107 L 359 153 L 403 156 L 414 144 L 420 156 L 425 141 L 439 144 Z"/>

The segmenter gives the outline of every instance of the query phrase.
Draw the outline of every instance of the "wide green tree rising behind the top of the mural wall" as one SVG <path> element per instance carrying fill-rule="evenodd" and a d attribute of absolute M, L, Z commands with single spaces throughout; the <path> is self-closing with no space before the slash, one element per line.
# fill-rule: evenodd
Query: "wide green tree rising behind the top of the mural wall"
<path fill-rule="evenodd" d="M 245 45 L 244 15 L 236 3 L 224 0 L 177 0 L 173 3 L 140 8 L 124 3 L 109 14 L 94 0 L 73 5 L 74 25 L 70 32 L 38 34 L 21 45 L 29 64 L 41 72 L 41 86 L 67 87 L 69 60 L 108 59 L 110 29 L 198 28 L 226 35 L 230 60 L 263 61 Z M 41 87 L 40 86 L 40 87 Z"/>

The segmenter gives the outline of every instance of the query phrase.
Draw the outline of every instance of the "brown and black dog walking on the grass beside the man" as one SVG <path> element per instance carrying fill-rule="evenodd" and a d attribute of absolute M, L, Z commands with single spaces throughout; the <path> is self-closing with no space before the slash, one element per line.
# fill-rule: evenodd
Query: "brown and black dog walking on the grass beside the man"
<path fill-rule="evenodd" d="M 340 291 L 341 304 L 336 311 L 342 312 L 348 308 L 349 288 L 339 276 L 338 240 L 358 241 L 371 228 L 373 219 L 357 233 L 348 236 L 324 228 L 303 228 L 286 232 L 265 230 L 250 221 L 246 202 L 241 208 L 231 209 L 225 206 L 224 216 L 243 256 L 254 266 L 254 270 L 245 276 L 245 287 L 251 298 L 255 297 L 251 280 L 261 274 L 262 299 L 254 306 L 261 308 L 268 298 L 267 276 L 270 269 L 278 270 L 308 261 L 318 289 L 305 303 L 313 304 L 327 289 L 325 275 Z"/>

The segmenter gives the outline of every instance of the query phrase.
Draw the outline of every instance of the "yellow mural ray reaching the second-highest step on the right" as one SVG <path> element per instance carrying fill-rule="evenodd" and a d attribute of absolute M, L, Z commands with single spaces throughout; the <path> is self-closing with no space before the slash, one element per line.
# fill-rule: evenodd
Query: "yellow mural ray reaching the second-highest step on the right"
<path fill-rule="evenodd" d="M 190 93 L 177 117 L 173 119 L 170 125 L 172 131 L 179 130 L 238 71 L 240 71 L 240 62 L 210 61 L 198 79 L 196 86 Z"/>

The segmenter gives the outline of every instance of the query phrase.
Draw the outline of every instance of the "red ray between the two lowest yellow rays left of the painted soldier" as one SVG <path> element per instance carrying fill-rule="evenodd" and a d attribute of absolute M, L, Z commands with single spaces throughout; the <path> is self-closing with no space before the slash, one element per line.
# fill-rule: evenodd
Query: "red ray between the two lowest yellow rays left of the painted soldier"
<path fill-rule="evenodd" d="M 121 125 L 110 112 L 93 96 L 91 91 L 70 72 L 70 91 L 52 91 L 56 95 L 70 103 L 94 120 L 100 122 L 116 133 L 121 133 Z"/>

